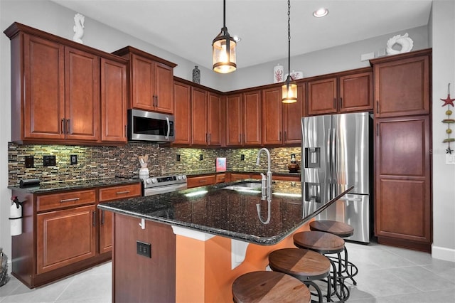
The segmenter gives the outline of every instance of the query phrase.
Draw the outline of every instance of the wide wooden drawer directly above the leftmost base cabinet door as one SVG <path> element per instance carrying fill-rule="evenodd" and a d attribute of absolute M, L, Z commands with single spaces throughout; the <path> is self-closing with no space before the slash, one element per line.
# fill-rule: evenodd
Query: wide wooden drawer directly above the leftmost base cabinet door
<path fill-rule="evenodd" d="M 36 211 L 50 211 L 68 206 L 79 206 L 95 203 L 95 189 L 87 191 L 68 191 L 66 193 L 53 193 L 36 198 Z"/>

